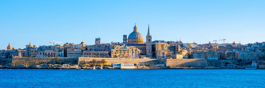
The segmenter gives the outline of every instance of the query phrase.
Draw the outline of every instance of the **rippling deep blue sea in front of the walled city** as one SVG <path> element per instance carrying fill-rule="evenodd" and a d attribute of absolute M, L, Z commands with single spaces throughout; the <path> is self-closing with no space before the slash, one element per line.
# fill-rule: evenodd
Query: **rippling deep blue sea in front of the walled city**
<path fill-rule="evenodd" d="M 242 69 L 2 69 L 0 74 L 1 88 L 249 88 L 265 85 L 265 70 Z"/>

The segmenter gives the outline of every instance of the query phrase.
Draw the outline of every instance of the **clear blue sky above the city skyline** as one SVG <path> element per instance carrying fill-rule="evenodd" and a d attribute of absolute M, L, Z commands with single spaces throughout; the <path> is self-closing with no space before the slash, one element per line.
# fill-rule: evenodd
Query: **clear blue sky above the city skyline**
<path fill-rule="evenodd" d="M 56 40 L 87 45 L 122 42 L 133 31 L 152 40 L 205 44 L 226 39 L 265 41 L 264 0 L 1 0 L 0 49 L 52 45 Z M 223 41 L 218 41 L 223 43 Z"/>

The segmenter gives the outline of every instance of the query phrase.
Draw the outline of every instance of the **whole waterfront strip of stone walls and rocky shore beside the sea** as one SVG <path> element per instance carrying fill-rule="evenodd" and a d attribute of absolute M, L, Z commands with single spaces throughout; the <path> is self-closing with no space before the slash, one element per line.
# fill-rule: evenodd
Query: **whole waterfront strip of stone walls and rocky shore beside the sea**
<path fill-rule="evenodd" d="M 102 62 L 104 61 L 104 63 Z M 242 69 L 258 63 L 257 69 L 264 69 L 262 60 L 203 60 L 203 59 L 139 59 L 139 58 L 89 58 L 89 57 L 16 57 L 0 59 L 1 68 L 42 69 L 115 69 L 113 64 L 133 64 L 139 69 Z M 222 68 L 220 68 L 222 67 Z"/>

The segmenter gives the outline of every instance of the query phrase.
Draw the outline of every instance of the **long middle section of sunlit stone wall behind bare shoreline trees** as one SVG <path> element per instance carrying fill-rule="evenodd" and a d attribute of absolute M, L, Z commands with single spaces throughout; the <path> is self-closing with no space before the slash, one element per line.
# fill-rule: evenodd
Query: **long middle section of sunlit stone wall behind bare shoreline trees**
<path fill-rule="evenodd" d="M 145 66 L 148 65 L 155 65 L 155 64 L 165 64 L 165 61 L 160 59 L 139 59 L 139 58 L 91 58 L 91 57 L 79 57 L 78 64 L 86 64 L 92 62 L 92 59 L 95 59 L 96 61 L 101 61 L 102 59 L 105 59 L 107 63 L 106 65 L 111 65 L 111 63 L 130 63 L 130 64 L 136 64 L 136 63 L 144 63 Z M 100 63 L 96 63 L 100 64 Z"/>

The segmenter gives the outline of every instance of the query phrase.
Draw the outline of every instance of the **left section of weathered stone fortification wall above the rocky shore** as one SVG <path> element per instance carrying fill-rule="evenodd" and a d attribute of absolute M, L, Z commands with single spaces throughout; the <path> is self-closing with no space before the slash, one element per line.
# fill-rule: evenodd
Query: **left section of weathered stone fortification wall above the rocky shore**
<path fill-rule="evenodd" d="M 58 58 L 58 61 L 56 61 Z M 56 64 L 56 63 L 64 63 L 64 64 L 77 64 L 78 58 L 67 58 L 67 57 L 16 57 L 12 58 L 12 65 L 18 64 Z"/>

